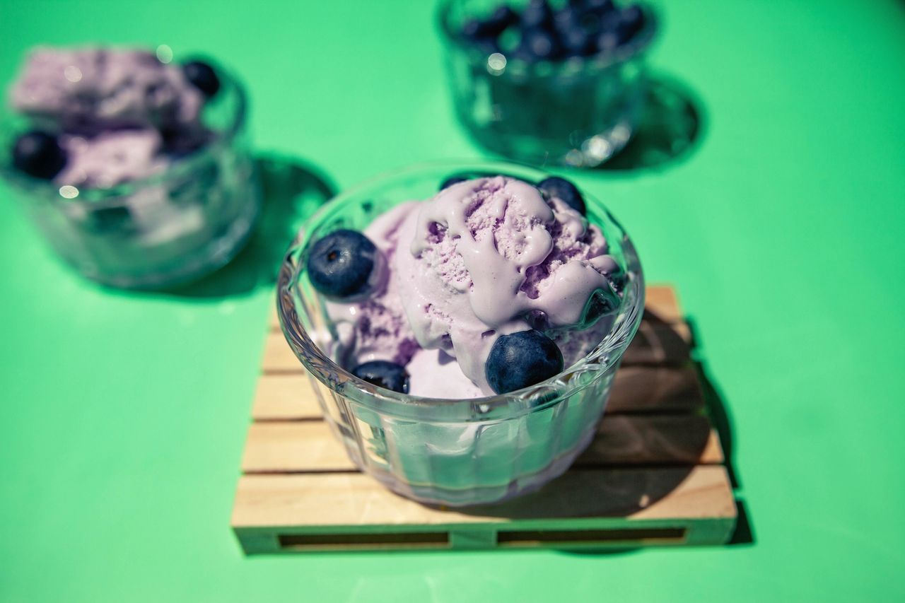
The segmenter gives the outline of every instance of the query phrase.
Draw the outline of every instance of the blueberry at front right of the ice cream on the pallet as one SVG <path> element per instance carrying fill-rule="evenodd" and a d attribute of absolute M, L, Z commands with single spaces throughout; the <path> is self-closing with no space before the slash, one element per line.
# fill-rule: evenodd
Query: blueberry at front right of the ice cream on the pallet
<path fill-rule="evenodd" d="M 527 388 L 563 369 L 557 344 L 539 330 L 522 330 L 496 340 L 484 366 L 491 389 L 498 394 Z"/>

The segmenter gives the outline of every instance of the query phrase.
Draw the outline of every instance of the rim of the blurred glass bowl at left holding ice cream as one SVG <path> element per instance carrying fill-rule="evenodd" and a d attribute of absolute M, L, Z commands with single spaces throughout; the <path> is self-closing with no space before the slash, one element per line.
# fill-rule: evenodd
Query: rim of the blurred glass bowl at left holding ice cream
<path fill-rule="evenodd" d="M 58 185 L 52 180 L 31 177 L 10 165 L 6 165 L 5 161 L 0 161 L 0 176 L 4 177 L 10 184 L 24 188 L 30 194 L 49 198 L 52 202 L 100 204 L 111 199 L 129 196 L 144 188 L 164 184 L 172 179 L 184 177 L 195 171 L 195 169 L 204 166 L 208 158 L 220 154 L 224 148 L 231 147 L 233 140 L 245 129 L 249 111 L 248 92 L 245 90 L 242 81 L 233 72 L 206 54 L 188 53 L 185 56 L 180 56 L 178 62 L 174 59 L 167 64 L 179 64 L 189 61 L 204 61 L 212 65 L 221 80 L 221 91 L 232 91 L 235 94 L 235 107 L 228 125 L 223 130 L 218 131 L 214 140 L 205 144 L 202 148 L 189 153 L 186 157 L 177 158 L 165 170 L 151 176 L 129 180 L 113 187 L 75 187 L 78 190 L 76 196 L 62 195 L 60 191 L 62 187 L 67 187 L 65 184 Z M 20 129 L 14 126 L 15 122 L 28 119 L 27 116 L 20 115 L 9 109 L 0 110 L 0 133 L 2 133 L 3 138 Z"/>

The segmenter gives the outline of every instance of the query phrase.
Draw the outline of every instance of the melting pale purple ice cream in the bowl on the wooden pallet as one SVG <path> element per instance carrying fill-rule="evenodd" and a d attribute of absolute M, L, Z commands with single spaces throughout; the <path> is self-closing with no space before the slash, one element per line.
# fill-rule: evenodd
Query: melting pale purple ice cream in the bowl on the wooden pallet
<path fill-rule="evenodd" d="M 347 367 L 405 366 L 412 395 L 493 395 L 485 364 L 501 336 L 541 330 L 568 367 L 612 325 L 612 315 L 588 316 L 595 296 L 617 296 L 619 264 L 603 233 L 519 179 L 452 185 L 379 215 L 365 235 L 388 270 L 367 300 L 327 304 L 331 351 Z"/>

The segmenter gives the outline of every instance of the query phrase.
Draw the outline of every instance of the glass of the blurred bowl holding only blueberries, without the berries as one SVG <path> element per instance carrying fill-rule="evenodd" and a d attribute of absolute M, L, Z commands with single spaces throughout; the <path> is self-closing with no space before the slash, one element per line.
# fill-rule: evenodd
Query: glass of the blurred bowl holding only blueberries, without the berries
<path fill-rule="evenodd" d="M 466 21 L 486 18 L 501 4 L 519 9 L 528 0 L 439 5 L 458 119 L 481 146 L 503 157 L 585 168 L 605 162 L 631 139 L 643 109 L 645 56 L 657 31 L 653 10 L 639 5 L 642 29 L 613 53 L 525 62 L 513 53 L 481 50 L 460 34 Z"/>

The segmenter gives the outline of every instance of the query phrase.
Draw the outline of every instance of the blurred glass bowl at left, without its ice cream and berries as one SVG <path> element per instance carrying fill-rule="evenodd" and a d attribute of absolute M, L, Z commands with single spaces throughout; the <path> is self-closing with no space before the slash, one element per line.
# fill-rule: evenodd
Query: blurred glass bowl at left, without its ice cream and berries
<path fill-rule="evenodd" d="M 116 187 L 61 187 L 15 169 L 10 149 L 31 123 L 4 116 L 0 175 L 47 242 L 84 276 L 129 289 L 191 281 L 229 262 L 251 234 L 261 194 L 247 98 L 239 81 L 215 69 L 221 88 L 202 113 L 213 139 L 160 174 Z"/>

